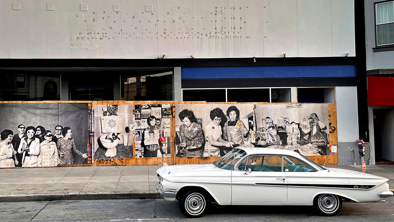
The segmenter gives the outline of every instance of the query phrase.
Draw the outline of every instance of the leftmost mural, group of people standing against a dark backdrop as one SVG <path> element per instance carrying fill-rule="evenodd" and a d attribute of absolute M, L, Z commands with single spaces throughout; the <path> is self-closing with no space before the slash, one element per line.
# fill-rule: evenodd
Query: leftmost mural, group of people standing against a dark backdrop
<path fill-rule="evenodd" d="M 1 103 L 0 167 L 87 163 L 87 103 Z"/>

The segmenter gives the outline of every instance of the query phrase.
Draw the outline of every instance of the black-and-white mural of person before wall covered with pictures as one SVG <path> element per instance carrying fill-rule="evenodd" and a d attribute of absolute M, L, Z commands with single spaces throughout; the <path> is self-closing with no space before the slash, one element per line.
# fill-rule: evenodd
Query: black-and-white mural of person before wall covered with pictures
<path fill-rule="evenodd" d="M 170 104 L 134 105 L 136 157 L 171 156 Z M 165 144 L 159 146 L 159 138 Z"/>

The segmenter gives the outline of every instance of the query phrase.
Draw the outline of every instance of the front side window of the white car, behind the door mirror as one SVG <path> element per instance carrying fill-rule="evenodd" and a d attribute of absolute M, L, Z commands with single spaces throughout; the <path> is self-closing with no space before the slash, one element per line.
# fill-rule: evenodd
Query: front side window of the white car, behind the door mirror
<path fill-rule="evenodd" d="M 245 169 L 252 171 L 281 172 L 282 156 L 249 156 Z"/>

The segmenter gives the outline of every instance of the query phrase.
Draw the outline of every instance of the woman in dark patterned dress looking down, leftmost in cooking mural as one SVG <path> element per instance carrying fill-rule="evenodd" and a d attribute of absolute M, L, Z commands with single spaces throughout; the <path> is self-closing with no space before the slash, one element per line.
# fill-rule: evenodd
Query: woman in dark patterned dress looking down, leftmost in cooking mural
<path fill-rule="evenodd" d="M 180 147 L 184 156 L 203 156 L 204 134 L 203 128 L 197 123 L 194 113 L 184 109 L 178 115 L 182 125 L 179 126 Z"/>

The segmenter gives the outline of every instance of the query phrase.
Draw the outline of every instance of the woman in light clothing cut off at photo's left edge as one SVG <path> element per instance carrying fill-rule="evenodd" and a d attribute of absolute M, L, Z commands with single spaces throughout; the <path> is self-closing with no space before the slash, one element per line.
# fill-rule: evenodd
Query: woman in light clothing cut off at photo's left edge
<path fill-rule="evenodd" d="M 14 132 L 12 130 L 4 130 L 1 133 L 0 138 L 3 141 L 0 143 L 0 167 L 15 167 L 15 165 L 18 165 L 17 152 L 15 152 L 11 143 L 13 137 Z M 15 161 L 12 159 L 12 156 L 14 156 Z"/>

